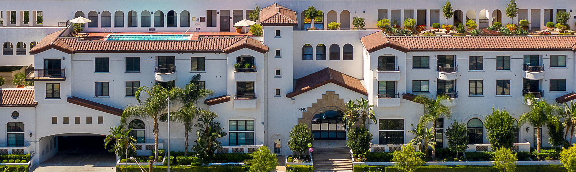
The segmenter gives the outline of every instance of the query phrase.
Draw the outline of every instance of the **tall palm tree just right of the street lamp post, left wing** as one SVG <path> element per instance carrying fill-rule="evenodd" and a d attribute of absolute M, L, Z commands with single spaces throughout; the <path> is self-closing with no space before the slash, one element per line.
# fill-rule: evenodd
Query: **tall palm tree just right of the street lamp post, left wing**
<path fill-rule="evenodd" d="M 196 74 L 190 79 L 188 85 L 184 86 L 184 91 L 180 95 L 182 107 L 175 112 L 176 116 L 173 118 L 175 121 L 184 123 L 184 156 L 188 156 L 188 133 L 192 132 L 196 115 L 209 113 L 196 105 L 200 99 L 214 94 L 212 90 L 201 88 L 199 81 L 200 74 Z"/>

